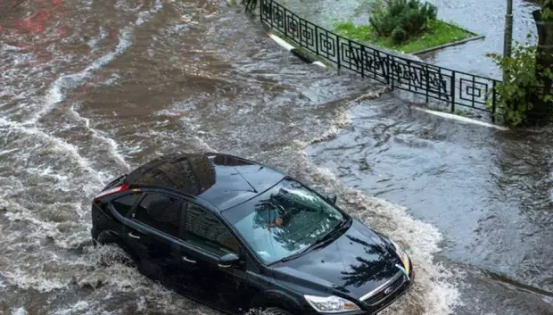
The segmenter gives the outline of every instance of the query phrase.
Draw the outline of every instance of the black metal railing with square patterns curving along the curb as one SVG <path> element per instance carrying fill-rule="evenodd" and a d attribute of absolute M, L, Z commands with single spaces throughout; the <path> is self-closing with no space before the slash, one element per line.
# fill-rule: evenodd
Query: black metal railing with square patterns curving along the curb
<path fill-rule="evenodd" d="M 426 103 L 434 100 L 449 106 L 469 107 L 490 112 L 496 118 L 499 95 L 494 87 L 500 82 L 482 76 L 418 62 L 365 46 L 301 19 L 273 0 L 244 0 L 251 12 L 260 4 L 260 20 L 282 33 L 301 48 L 332 62 L 338 69 L 358 73 L 392 89 L 422 95 Z"/>

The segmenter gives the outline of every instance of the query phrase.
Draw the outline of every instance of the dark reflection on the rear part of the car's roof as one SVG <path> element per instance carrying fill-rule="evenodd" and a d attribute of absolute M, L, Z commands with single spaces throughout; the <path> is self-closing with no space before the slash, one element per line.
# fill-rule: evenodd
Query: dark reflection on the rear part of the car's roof
<path fill-rule="evenodd" d="M 191 195 L 200 195 L 215 184 L 215 165 L 207 155 L 179 155 L 155 162 L 140 183 L 173 187 Z"/>

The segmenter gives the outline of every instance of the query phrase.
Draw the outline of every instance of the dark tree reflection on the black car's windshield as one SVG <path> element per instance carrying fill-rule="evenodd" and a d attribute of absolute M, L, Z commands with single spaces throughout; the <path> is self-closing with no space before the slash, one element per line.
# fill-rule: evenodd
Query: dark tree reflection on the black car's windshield
<path fill-rule="evenodd" d="M 271 225 L 276 218 L 283 220 L 282 225 Z M 255 205 L 253 218 L 254 228 L 270 229 L 273 240 L 290 252 L 313 244 L 333 222 L 337 220 L 331 220 L 309 195 L 296 195 L 282 188 Z"/>

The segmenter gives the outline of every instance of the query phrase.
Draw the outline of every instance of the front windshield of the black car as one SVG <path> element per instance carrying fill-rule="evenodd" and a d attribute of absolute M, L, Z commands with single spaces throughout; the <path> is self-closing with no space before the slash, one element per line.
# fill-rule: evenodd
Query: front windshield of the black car
<path fill-rule="evenodd" d="M 240 208 L 223 213 L 268 264 L 314 245 L 346 220 L 324 198 L 290 178 Z"/>

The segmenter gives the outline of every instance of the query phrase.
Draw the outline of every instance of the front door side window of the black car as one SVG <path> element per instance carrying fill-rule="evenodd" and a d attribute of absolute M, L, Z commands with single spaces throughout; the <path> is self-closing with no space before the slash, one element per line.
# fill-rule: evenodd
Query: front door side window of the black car
<path fill-rule="evenodd" d="M 185 220 L 186 241 L 203 250 L 222 256 L 240 253 L 235 236 L 213 214 L 188 203 Z"/>

